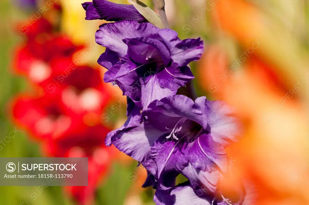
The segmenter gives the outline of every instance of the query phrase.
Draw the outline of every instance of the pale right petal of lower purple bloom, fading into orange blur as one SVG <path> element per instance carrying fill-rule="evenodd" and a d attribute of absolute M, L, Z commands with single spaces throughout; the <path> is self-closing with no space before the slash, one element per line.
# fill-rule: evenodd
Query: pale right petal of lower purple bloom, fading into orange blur
<path fill-rule="evenodd" d="M 224 147 L 236 141 L 240 134 L 239 120 L 234 116 L 234 109 L 222 101 L 209 101 L 205 97 L 195 101 L 205 111 L 214 141 Z"/>

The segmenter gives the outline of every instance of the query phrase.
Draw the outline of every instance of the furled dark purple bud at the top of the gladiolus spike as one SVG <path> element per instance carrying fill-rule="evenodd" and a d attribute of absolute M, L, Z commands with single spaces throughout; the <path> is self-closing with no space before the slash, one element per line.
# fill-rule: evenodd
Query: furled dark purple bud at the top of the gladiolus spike
<path fill-rule="evenodd" d="M 147 20 L 132 5 L 117 4 L 107 0 L 93 0 L 82 4 L 86 11 L 86 20 L 104 19 L 106 21 Z"/>

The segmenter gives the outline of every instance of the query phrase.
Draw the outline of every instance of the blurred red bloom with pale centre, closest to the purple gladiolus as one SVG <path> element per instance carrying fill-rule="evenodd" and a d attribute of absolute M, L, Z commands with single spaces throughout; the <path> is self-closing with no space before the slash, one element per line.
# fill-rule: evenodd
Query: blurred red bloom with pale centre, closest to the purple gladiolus
<path fill-rule="evenodd" d="M 76 114 L 85 115 L 91 112 L 101 115 L 109 102 L 110 94 L 97 69 L 78 66 L 49 80 L 57 87 L 56 92 L 61 92 L 63 103 Z M 47 92 L 48 88 L 47 85 Z M 96 118 L 99 119 L 99 116 Z"/>

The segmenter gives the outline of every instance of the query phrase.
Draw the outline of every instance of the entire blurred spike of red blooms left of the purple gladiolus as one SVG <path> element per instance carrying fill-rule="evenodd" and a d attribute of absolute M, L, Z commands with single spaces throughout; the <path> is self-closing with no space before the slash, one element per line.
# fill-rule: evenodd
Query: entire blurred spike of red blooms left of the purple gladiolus
<path fill-rule="evenodd" d="M 105 147 L 104 137 L 110 130 L 100 124 L 110 94 L 98 69 L 78 66 L 83 58 L 73 59 L 82 47 L 52 32 L 46 19 L 22 26 L 28 40 L 16 49 L 14 69 L 39 88 L 40 95 L 15 98 L 13 120 L 42 141 L 50 157 L 88 157 L 88 186 L 66 189 L 79 203 L 92 202 L 116 152 Z"/>

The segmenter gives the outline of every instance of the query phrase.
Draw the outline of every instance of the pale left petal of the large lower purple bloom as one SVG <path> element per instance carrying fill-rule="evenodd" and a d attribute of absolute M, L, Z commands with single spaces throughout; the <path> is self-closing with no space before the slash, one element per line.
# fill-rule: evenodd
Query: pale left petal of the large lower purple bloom
<path fill-rule="evenodd" d="M 137 161 L 143 161 L 154 142 L 166 132 L 154 129 L 149 123 L 135 120 L 112 136 L 112 144 Z"/>

